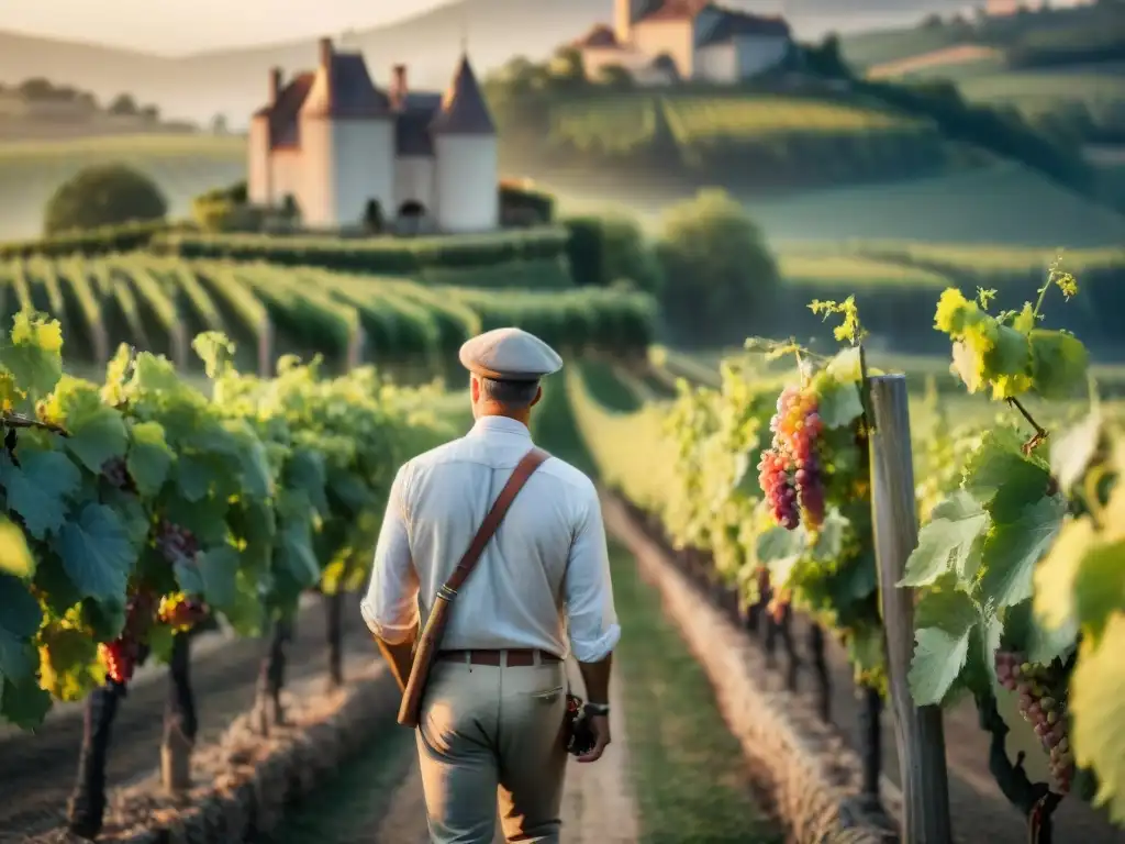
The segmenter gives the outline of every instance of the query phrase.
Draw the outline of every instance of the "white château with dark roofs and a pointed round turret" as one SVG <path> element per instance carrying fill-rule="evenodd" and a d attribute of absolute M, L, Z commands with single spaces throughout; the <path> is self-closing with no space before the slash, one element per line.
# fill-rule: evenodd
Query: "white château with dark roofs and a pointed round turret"
<path fill-rule="evenodd" d="M 316 70 L 287 82 L 274 68 L 269 84 L 250 123 L 252 204 L 291 197 L 307 228 L 358 226 L 372 201 L 415 228 L 498 227 L 496 127 L 467 56 L 444 96 L 408 90 L 405 65 L 384 92 L 360 53 L 322 38 Z"/>

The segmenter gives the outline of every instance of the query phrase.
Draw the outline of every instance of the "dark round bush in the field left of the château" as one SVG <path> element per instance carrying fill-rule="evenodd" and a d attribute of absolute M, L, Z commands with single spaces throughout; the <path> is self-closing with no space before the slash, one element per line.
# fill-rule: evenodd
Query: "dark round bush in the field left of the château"
<path fill-rule="evenodd" d="M 163 219 L 168 203 L 144 173 L 125 164 L 94 164 L 58 186 L 47 200 L 47 236 L 134 221 Z"/>

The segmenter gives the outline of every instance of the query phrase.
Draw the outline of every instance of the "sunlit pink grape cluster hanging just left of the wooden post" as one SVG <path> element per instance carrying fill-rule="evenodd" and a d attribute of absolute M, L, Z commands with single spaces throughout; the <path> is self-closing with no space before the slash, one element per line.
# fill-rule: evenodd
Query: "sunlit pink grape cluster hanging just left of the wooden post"
<path fill-rule="evenodd" d="M 803 517 L 810 528 L 825 521 L 825 484 L 820 434 L 825 430 L 817 396 L 810 389 L 786 387 L 770 420 L 773 442 L 758 463 L 758 483 L 774 520 L 794 530 Z"/>

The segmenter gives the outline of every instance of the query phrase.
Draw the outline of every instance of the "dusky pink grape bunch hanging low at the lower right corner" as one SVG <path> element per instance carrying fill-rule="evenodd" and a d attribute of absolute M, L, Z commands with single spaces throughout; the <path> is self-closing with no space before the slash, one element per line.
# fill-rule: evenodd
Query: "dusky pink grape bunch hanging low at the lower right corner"
<path fill-rule="evenodd" d="M 1074 779 L 1074 754 L 1066 731 L 1065 701 L 1052 697 L 1051 672 L 1043 665 L 1025 662 L 1024 655 L 996 652 L 996 675 L 1000 684 L 1019 694 L 1019 713 L 1032 725 L 1043 748 L 1051 756 L 1051 775 L 1063 794 Z"/>

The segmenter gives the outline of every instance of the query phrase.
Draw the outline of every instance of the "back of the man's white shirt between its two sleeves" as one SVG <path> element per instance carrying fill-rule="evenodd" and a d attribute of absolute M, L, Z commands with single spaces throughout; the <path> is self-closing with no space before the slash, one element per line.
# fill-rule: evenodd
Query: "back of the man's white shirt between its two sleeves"
<path fill-rule="evenodd" d="M 441 584 L 531 446 L 523 424 L 487 416 L 466 437 L 404 467 L 402 504 L 423 621 Z M 590 526 L 591 519 L 597 524 Z M 594 485 L 569 464 L 547 460 L 516 496 L 461 587 L 442 646 L 540 648 L 565 656 L 560 610 L 565 603 L 574 604 L 576 596 L 572 591 L 568 601 L 567 567 L 573 546 L 582 541 L 587 527 L 596 528 L 594 536 L 601 535 Z M 580 613 L 588 608 L 579 604 L 572 610 Z"/>

